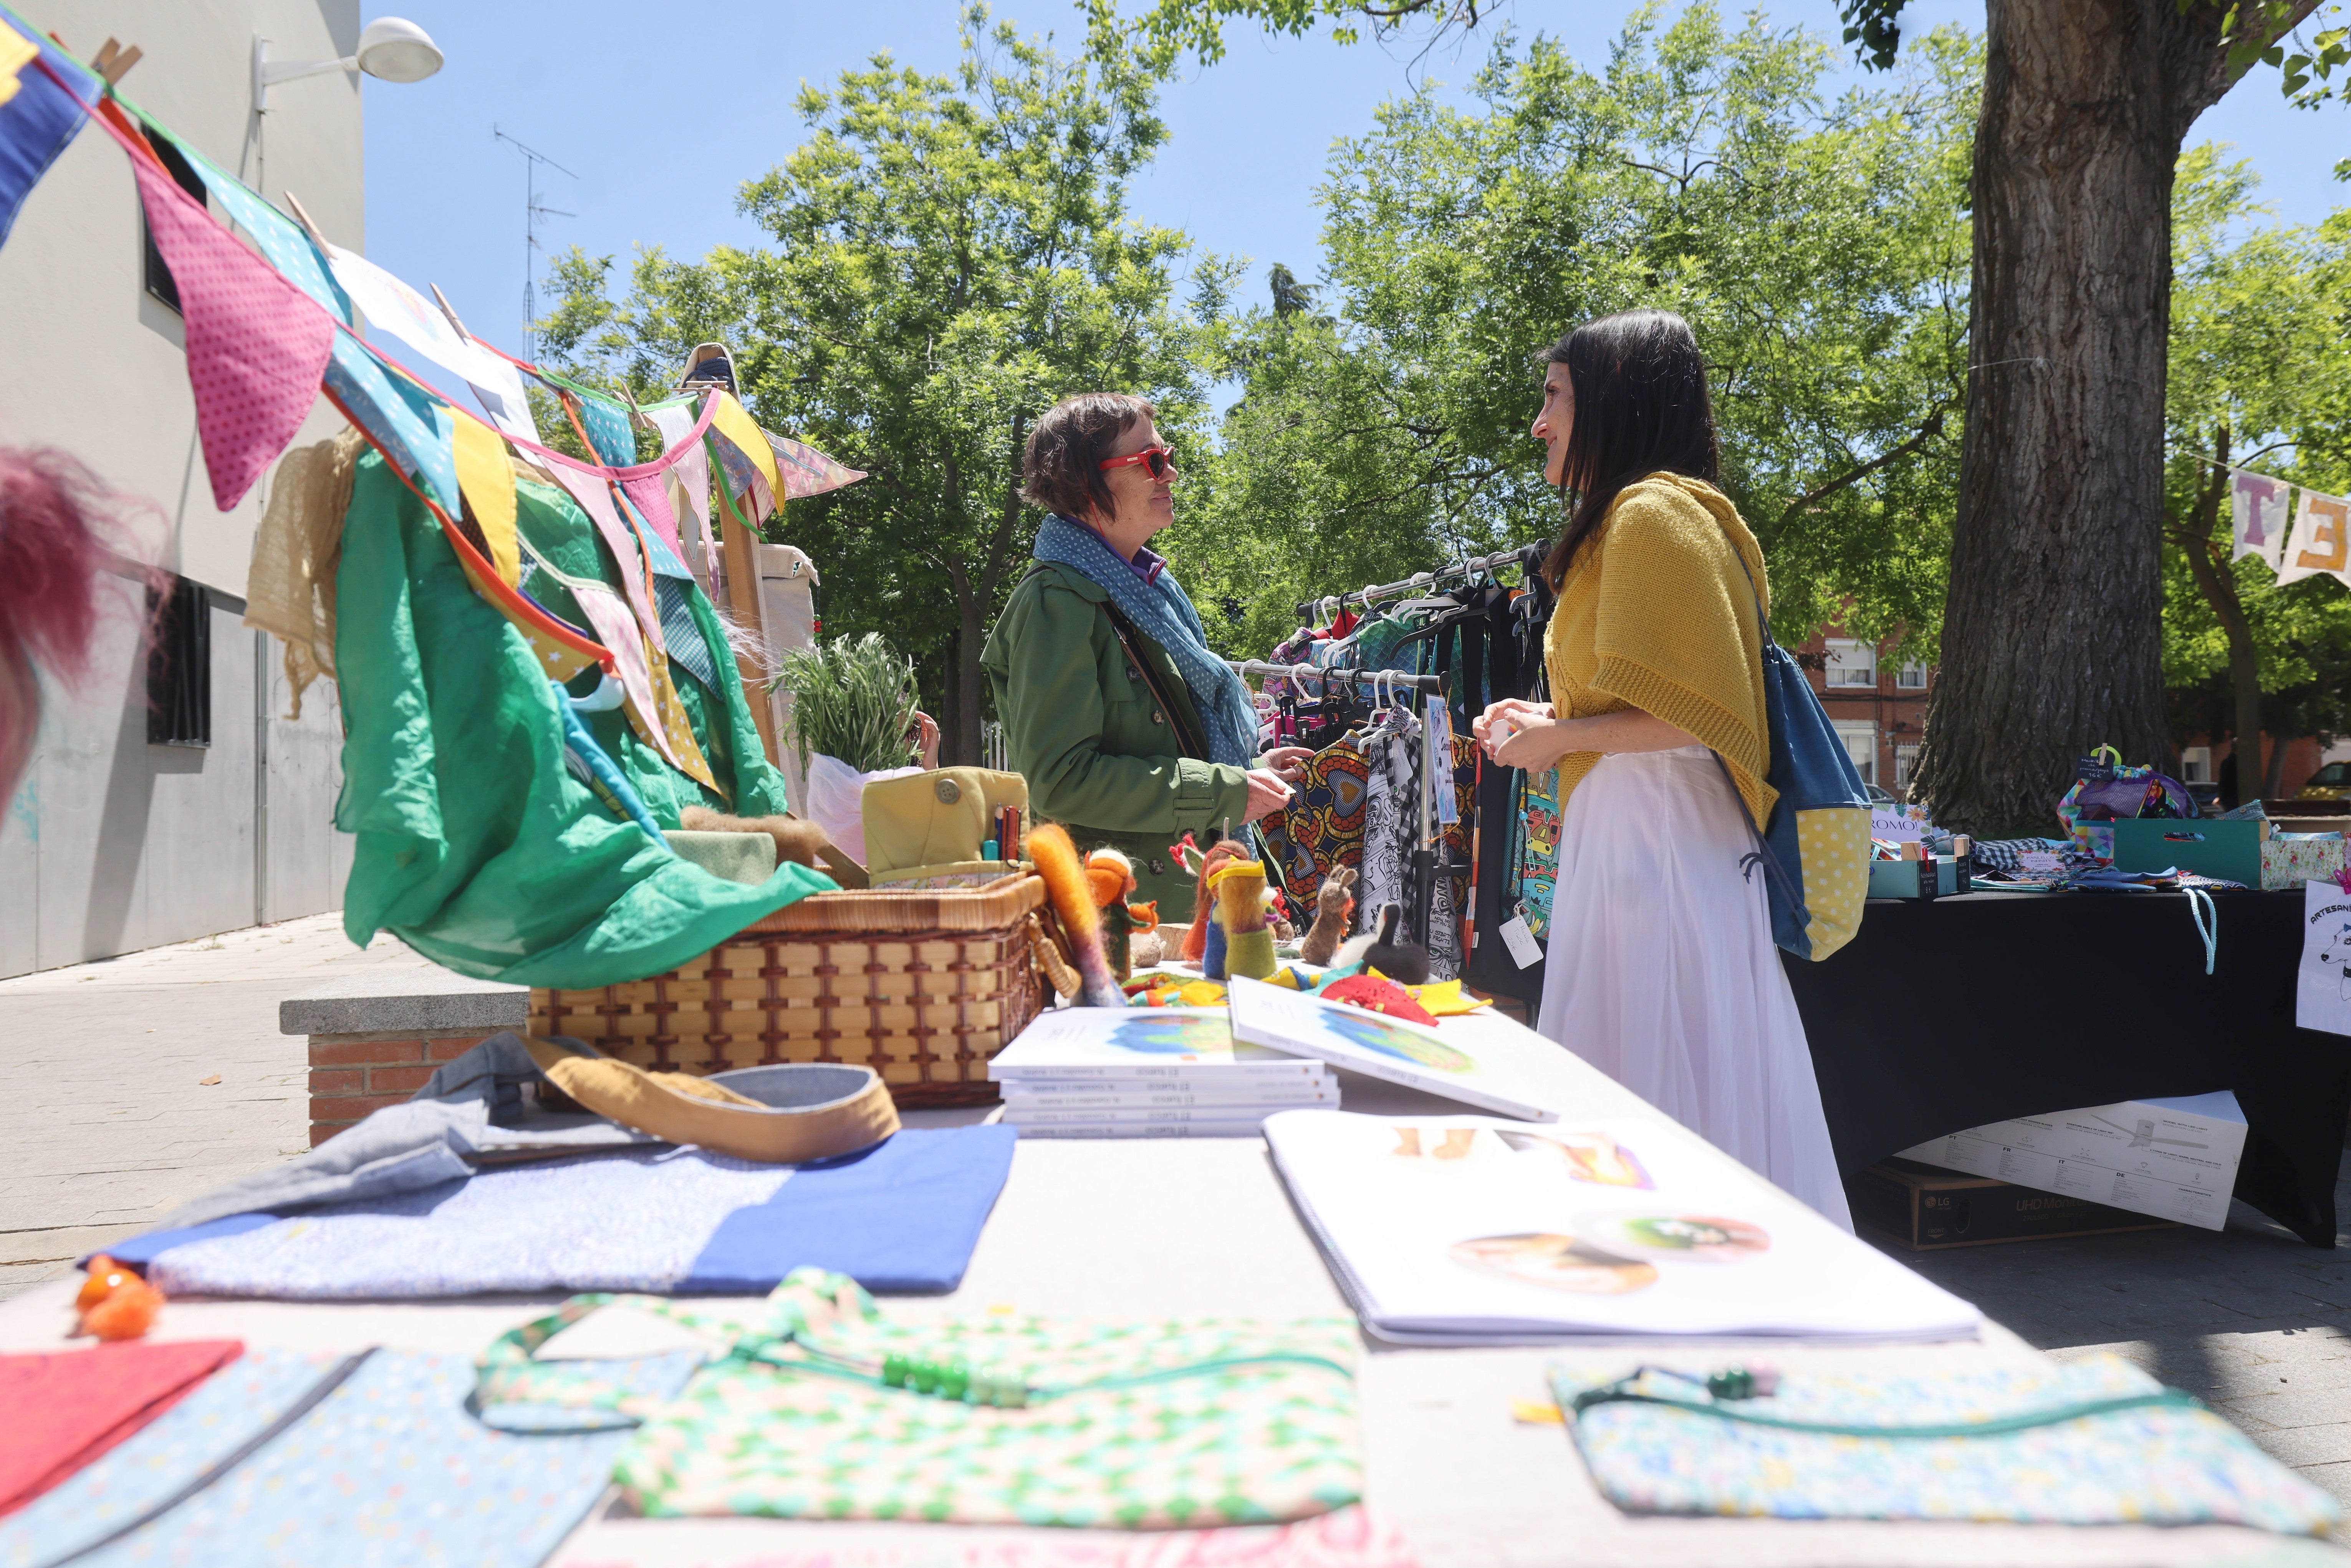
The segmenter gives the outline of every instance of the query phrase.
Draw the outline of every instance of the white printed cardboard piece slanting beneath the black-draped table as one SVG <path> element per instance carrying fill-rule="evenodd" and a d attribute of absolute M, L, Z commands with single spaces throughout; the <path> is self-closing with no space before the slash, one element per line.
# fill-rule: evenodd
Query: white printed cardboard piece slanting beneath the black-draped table
<path fill-rule="evenodd" d="M 2245 1112 L 2229 1091 L 2017 1117 L 1902 1150 L 1928 1166 L 2203 1229 L 2229 1222 L 2243 1154 Z"/>

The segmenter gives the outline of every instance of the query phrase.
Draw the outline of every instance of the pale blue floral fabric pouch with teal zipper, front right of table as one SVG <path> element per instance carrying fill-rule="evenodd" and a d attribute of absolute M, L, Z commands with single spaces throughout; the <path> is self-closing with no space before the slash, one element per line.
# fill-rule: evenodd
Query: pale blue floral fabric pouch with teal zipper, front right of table
<path fill-rule="evenodd" d="M 1552 1368 L 1563 1410 L 1587 1401 L 1570 1418 L 1575 1446 L 1627 1512 L 2288 1535 L 2325 1535 L 2342 1516 L 2226 1420 L 2114 1354 L 1947 1378 L 1796 1373 L 1763 1399 L 1719 1399 L 1707 1382 Z"/>

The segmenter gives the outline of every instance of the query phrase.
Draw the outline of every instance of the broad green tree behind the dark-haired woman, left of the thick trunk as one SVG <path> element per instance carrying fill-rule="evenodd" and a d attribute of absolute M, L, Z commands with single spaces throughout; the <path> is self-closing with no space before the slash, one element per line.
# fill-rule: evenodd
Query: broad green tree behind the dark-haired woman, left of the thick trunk
<path fill-rule="evenodd" d="M 1335 148 L 1331 315 L 1234 320 L 1215 494 L 1178 524 L 1204 597 L 1262 651 L 1317 592 L 1549 538 L 1526 428 L 1538 360 L 1627 306 L 1690 317 L 1723 482 L 1770 548 L 1777 625 L 1925 656 L 1965 386 L 1963 181 L 1975 52 L 1928 40 L 1886 89 L 1822 99 L 1827 40 L 1636 12 L 1603 68 L 1505 38 L 1474 106 L 1422 92 Z M 1190 567 L 1194 557 L 1204 564 Z"/>

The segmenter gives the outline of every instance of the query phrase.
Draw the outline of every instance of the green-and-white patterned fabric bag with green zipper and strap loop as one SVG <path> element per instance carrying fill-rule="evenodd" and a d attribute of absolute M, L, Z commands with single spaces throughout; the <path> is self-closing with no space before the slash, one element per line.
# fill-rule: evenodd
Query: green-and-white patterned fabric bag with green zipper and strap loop
<path fill-rule="evenodd" d="M 531 1359 L 616 1300 L 726 1354 L 665 1406 Z M 541 1429 L 564 1410 L 642 1420 L 614 1481 L 649 1516 L 1201 1528 L 1361 1500 L 1354 1359 L 1345 1316 L 893 1324 L 849 1276 L 797 1269 L 748 1328 L 661 1298 L 574 1298 L 491 1345 L 477 1401 Z"/>

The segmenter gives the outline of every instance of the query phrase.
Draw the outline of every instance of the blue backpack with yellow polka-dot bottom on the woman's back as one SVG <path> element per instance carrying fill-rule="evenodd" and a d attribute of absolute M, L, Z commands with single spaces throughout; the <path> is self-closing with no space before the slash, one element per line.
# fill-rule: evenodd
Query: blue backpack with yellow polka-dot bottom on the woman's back
<path fill-rule="evenodd" d="M 1723 536 L 1728 534 L 1726 529 Z M 1714 764 L 1730 778 L 1740 816 L 1756 839 L 1754 853 L 1740 865 L 1749 879 L 1763 867 L 1770 940 L 1799 959 L 1824 959 L 1862 929 L 1862 905 L 1869 898 L 1869 790 L 1829 724 L 1820 693 L 1803 677 L 1803 665 L 1773 642 L 1763 592 L 1756 590 L 1737 541 L 1730 543 L 1730 555 L 1747 574 L 1756 625 L 1763 628 L 1763 717 L 1770 726 L 1770 771 L 1763 780 L 1780 792 L 1768 830 L 1756 827 L 1721 752 Z"/>

